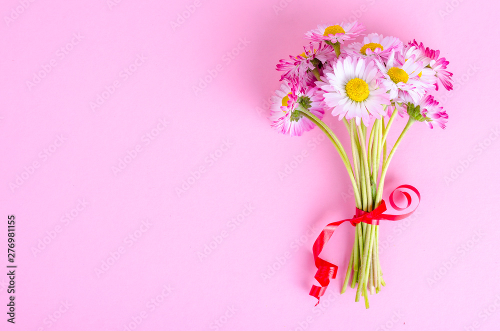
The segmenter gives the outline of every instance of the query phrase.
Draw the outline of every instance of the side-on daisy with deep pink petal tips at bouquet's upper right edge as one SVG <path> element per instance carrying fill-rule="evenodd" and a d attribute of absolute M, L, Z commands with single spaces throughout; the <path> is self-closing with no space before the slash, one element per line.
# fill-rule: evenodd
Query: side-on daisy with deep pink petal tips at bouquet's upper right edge
<path fill-rule="evenodd" d="M 451 76 L 453 73 L 445 70 L 446 66 L 449 64 L 444 57 L 439 57 L 439 50 L 430 49 L 429 47 L 424 47 L 423 43 L 418 44 L 414 39 L 413 42 L 409 42 L 406 47 L 405 52 L 416 52 L 419 53 L 417 56 L 418 60 L 423 62 L 423 65 L 431 68 L 435 72 L 435 76 L 438 81 L 447 90 L 453 89 L 453 80 Z M 437 82 L 435 82 L 435 89 L 438 89 Z"/>

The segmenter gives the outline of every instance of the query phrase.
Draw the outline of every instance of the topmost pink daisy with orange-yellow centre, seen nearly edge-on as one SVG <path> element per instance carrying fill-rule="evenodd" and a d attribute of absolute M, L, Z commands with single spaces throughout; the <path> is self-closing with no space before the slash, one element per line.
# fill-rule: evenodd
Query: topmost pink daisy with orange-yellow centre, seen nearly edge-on
<path fill-rule="evenodd" d="M 325 41 L 328 43 L 343 43 L 346 40 L 354 39 L 366 28 L 363 24 L 353 21 L 336 25 L 318 24 L 317 28 L 305 33 L 305 38 L 314 42 Z"/>

